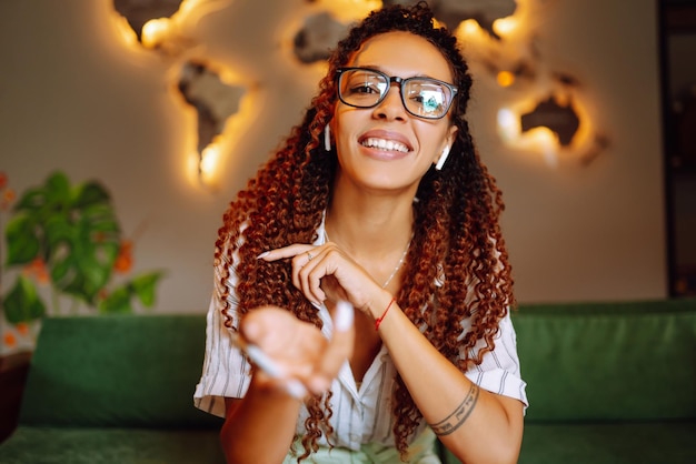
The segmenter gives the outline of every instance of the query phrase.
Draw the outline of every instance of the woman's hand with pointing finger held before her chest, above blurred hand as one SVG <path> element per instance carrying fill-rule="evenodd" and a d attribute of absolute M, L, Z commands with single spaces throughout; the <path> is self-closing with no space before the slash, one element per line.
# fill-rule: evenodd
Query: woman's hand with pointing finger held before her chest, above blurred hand
<path fill-rule="evenodd" d="M 370 306 L 385 290 L 348 256 L 336 243 L 322 245 L 294 244 L 262 253 L 259 259 L 292 260 L 292 284 L 314 304 L 326 300 L 348 301 L 359 311 L 370 314 Z"/>

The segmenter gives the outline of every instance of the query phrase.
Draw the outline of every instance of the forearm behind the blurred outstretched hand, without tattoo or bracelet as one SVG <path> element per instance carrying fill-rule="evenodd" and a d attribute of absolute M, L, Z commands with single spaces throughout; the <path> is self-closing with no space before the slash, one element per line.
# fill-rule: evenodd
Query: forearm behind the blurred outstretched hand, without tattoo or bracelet
<path fill-rule="evenodd" d="M 295 436 L 298 400 L 252 379 L 246 396 L 226 399 L 226 408 L 220 442 L 228 463 L 282 462 Z"/>

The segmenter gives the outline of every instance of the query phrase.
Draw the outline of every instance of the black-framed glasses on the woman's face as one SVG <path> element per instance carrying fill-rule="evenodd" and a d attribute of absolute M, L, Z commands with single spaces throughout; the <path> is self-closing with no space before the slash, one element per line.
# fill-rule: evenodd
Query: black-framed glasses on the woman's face
<path fill-rule="evenodd" d="M 339 68 L 336 72 L 338 98 L 355 108 L 377 107 L 396 82 L 406 111 L 418 118 L 440 119 L 457 94 L 455 85 L 431 78 L 402 79 L 368 68 Z"/>

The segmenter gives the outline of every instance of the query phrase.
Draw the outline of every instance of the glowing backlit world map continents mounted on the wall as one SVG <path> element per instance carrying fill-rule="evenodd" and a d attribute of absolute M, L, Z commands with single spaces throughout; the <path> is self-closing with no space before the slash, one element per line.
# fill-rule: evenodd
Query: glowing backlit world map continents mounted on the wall
<path fill-rule="evenodd" d="M 578 82 L 544 64 L 534 31 L 533 18 L 554 1 L 431 0 L 429 4 L 438 21 L 466 43 L 467 58 L 497 80 L 501 92 L 508 92 L 510 107 L 501 108 L 498 118 L 501 140 L 513 148 L 539 148 L 551 165 L 559 150 L 570 149 L 580 153 L 580 162 L 588 163 L 606 148 L 607 138 L 594 133 L 589 125 L 578 101 Z M 415 2 L 384 0 L 385 4 Z M 216 140 L 225 133 L 227 121 L 239 111 L 249 89 L 225 79 L 225 68 L 207 57 L 190 57 L 195 43 L 181 31 L 187 22 L 229 4 L 227 0 L 113 0 L 115 10 L 142 47 L 167 57 L 186 57 L 183 61 L 175 60 L 179 68 L 175 88 L 197 113 L 197 169 L 203 183 L 207 170 L 215 169 L 212 160 L 220 155 Z M 295 33 L 291 50 L 301 63 L 312 64 L 326 60 L 358 19 L 346 13 L 350 6 L 360 6 L 362 11 L 365 7 L 379 8 L 382 2 L 306 0 L 306 4 L 315 7 L 314 12 L 305 17 Z M 528 24 L 520 28 L 525 21 Z M 545 82 L 541 92 L 539 82 Z M 536 90 L 530 92 L 533 88 Z M 534 100 L 521 98 L 525 94 L 534 94 Z"/>

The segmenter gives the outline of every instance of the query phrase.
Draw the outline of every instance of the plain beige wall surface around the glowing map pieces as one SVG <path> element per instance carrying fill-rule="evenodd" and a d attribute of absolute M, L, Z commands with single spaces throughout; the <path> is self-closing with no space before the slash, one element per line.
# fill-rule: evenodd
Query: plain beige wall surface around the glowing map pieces
<path fill-rule="evenodd" d="M 157 311 L 203 311 L 221 213 L 309 102 L 319 67 L 288 53 L 302 0 L 237 0 L 189 33 L 206 54 L 255 82 L 218 191 L 187 170 L 193 115 L 169 92 L 172 61 L 117 39 L 108 0 L 0 2 L 0 170 L 18 191 L 56 169 L 99 179 L 136 271 L 166 269 Z M 504 226 L 520 301 L 660 297 L 665 218 L 654 0 L 546 1 L 543 56 L 576 75 L 610 148 L 588 167 L 549 168 L 495 133 L 504 104 L 481 73 L 471 124 L 505 192 Z M 241 74 L 240 74 L 241 75 Z M 2 292 L 7 291 L 3 289 Z"/>

